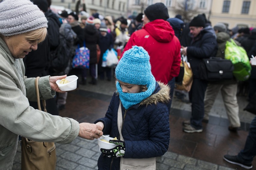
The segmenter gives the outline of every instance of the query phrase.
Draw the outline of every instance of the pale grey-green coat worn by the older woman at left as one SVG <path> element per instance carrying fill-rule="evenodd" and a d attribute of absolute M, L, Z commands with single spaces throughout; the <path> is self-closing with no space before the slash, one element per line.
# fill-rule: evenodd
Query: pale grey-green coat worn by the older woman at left
<path fill-rule="evenodd" d="M 0 170 L 12 168 L 18 135 L 35 141 L 72 142 L 79 133 L 74 119 L 53 116 L 29 106 L 36 101 L 35 78 L 26 78 L 22 59 L 12 56 L 0 38 Z M 41 99 L 53 98 L 49 77 L 39 79 Z"/>

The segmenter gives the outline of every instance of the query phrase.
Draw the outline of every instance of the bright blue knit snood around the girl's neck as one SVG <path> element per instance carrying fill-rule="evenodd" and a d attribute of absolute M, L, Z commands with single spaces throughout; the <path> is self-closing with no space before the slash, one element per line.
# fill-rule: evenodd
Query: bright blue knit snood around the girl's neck
<path fill-rule="evenodd" d="M 148 98 L 154 92 L 156 87 L 156 80 L 152 75 L 151 81 L 149 85 L 147 85 L 148 87 L 147 91 L 140 92 L 140 93 L 124 93 L 118 81 L 116 83 L 116 87 L 117 87 L 117 92 L 119 93 L 119 98 L 123 104 L 123 107 L 127 110 L 129 107 L 140 103 L 145 98 Z"/>

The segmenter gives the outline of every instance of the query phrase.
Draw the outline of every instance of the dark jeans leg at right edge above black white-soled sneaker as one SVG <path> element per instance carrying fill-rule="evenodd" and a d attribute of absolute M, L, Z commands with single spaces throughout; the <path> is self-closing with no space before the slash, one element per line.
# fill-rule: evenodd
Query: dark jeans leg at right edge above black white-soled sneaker
<path fill-rule="evenodd" d="M 236 156 L 237 159 L 244 164 L 251 164 L 256 156 L 256 116 L 251 121 L 249 134 L 247 136 L 244 149 Z"/>

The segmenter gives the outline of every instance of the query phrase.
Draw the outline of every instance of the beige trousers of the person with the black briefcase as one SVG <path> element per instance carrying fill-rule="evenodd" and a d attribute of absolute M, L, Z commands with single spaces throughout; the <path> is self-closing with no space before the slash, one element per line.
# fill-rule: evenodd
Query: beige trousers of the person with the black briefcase
<path fill-rule="evenodd" d="M 240 127 L 239 106 L 236 92 L 238 84 L 208 84 L 204 98 L 204 119 L 209 119 L 209 113 L 214 101 L 221 90 L 222 99 L 226 108 L 230 126 Z"/>

